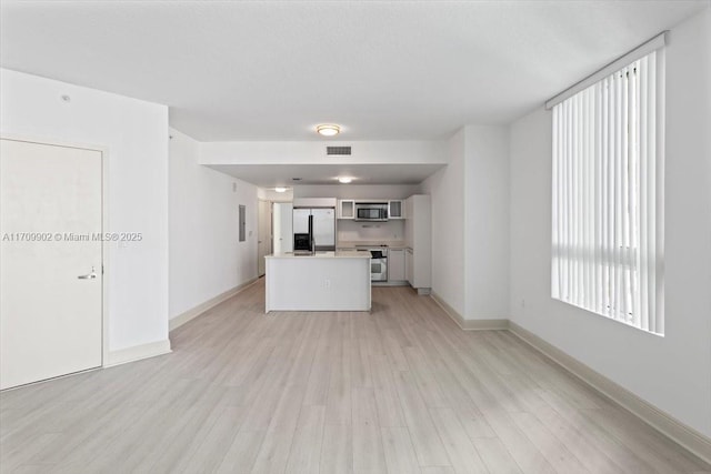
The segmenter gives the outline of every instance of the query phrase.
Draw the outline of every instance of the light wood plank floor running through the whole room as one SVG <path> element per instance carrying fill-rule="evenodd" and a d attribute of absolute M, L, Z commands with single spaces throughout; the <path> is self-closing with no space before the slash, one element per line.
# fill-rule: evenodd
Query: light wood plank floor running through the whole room
<path fill-rule="evenodd" d="M 21 473 L 697 473 L 711 467 L 507 331 L 427 296 L 262 313 L 263 282 L 173 353 L 0 394 Z"/>

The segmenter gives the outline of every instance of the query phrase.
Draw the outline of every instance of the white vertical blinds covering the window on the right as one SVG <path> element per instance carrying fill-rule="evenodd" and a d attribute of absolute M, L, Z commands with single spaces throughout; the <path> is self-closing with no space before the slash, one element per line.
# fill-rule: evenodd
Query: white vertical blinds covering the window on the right
<path fill-rule="evenodd" d="M 651 52 L 557 104 L 552 177 L 552 296 L 657 334 L 660 69 Z"/>

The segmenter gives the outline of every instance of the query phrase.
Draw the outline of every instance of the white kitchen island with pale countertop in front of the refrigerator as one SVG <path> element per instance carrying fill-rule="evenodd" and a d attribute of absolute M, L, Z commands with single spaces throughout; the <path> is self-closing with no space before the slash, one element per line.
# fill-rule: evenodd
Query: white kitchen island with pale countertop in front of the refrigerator
<path fill-rule="evenodd" d="M 370 311 L 370 253 L 267 255 L 266 312 Z"/>

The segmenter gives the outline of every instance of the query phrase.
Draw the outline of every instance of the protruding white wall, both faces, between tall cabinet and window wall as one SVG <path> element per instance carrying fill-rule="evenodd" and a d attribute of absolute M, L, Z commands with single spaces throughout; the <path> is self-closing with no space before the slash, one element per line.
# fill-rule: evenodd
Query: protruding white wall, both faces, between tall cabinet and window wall
<path fill-rule="evenodd" d="M 509 149 L 504 127 L 467 125 L 432 200 L 432 290 L 465 320 L 509 317 Z"/>

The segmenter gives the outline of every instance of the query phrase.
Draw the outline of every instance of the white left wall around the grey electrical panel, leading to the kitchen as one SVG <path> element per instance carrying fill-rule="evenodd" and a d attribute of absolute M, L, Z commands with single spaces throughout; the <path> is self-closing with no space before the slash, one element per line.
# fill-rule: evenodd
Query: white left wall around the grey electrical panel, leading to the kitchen
<path fill-rule="evenodd" d="M 198 164 L 198 142 L 170 134 L 170 317 L 257 278 L 257 188 Z M 239 242 L 239 205 L 247 241 Z"/>

